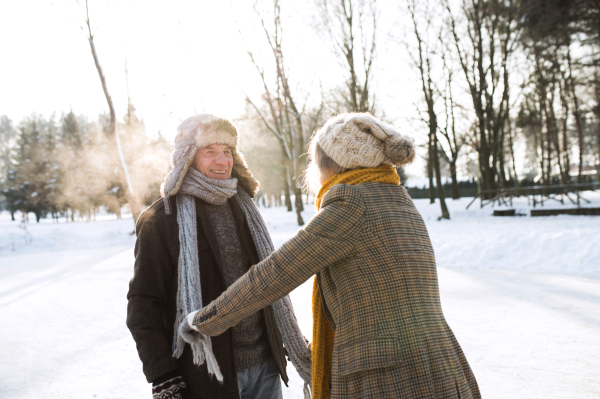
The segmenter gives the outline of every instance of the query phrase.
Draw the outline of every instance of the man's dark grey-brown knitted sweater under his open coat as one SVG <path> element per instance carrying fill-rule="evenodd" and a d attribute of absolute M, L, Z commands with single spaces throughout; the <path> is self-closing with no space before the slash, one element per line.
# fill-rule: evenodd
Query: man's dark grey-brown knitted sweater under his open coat
<path fill-rule="evenodd" d="M 221 251 L 223 276 L 229 287 L 251 266 L 250 258 L 241 244 L 239 227 L 228 203 L 207 205 Z M 256 366 L 271 358 L 266 339 L 262 312 L 240 321 L 233 327 L 237 371 Z"/>

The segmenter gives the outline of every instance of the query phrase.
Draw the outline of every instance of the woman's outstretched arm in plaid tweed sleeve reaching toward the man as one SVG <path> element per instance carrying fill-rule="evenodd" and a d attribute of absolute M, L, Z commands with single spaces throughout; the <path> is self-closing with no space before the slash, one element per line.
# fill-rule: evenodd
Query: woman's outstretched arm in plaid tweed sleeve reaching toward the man
<path fill-rule="evenodd" d="M 204 334 L 219 335 L 326 266 L 346 259 L 363 233 L 363 214 L 362 199 L 352 186 L 332 187 L 322 210 L 304 229 L 198 311 L 192 324 Z"/>

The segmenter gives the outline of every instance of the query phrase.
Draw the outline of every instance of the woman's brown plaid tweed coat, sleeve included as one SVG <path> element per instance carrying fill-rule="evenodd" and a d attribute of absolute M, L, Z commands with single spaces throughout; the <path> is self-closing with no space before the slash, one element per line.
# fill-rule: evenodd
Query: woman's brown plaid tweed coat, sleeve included
<path fill-rule="evenodd" d="M 425 224 L 401 186 L 333 186 L 305 228 L 194 324 L 221 334 L 314 274 L 335 330 L 332 398 L 481 397 L 442 313 Z"/>

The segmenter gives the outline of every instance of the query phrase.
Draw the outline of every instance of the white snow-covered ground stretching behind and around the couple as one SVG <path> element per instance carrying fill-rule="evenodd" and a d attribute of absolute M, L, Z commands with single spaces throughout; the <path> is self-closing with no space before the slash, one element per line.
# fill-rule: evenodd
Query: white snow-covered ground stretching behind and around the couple
<path fill-rule="evenodd" d="M 586 198 L 600 206 L 599 194 Z M 494 218 L 461 199 L 448 201 L 452 220 L 437 221 L 438 204 L 415 202 L 483 397 L 600 397 L 600 217 Z M 529 214 L 527 201 L 514 205 Z M 293 213 L 261 211 L 276 246 L 298 228 Z M 151 397 L 125 326 L 133 221 L 104 219 L 23 229 L 0 213 L 0 398 Z M 292 293 L 307 337 L 311 289 L 312 279 Z M 288 370 L 284 397 L 301 398 Z"/>

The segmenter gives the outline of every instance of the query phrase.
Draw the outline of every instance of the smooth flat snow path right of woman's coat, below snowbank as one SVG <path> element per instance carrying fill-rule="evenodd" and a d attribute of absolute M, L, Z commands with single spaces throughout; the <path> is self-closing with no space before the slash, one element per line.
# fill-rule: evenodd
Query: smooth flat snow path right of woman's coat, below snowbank
<path fill-rule="evenodd" d="M 439 269 L 444 313 L 484 398 L 600 397 L 600 282 Z"/>

